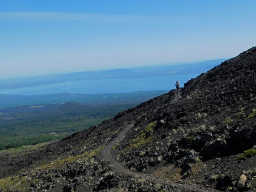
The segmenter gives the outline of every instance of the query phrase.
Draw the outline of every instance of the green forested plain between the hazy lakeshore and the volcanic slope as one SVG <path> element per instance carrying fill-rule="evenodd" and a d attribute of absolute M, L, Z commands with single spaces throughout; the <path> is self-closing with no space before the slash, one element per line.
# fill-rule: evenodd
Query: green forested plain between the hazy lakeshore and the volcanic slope
<path fill-rule="evenodd" d="M 104 100 L 91 100 L 87 102 L 90 105 L 66 102 L 2 108 L 0 109 L 0 150 L 61 140 L 160 93 L 156 91 L 155 95 L 152 94 L 152 92 L 148 92 L 148 95 L 141 92 L 141 94 L 124 93 L 118 97 L 113 95 L 108 99 L 101 97 Z"/>

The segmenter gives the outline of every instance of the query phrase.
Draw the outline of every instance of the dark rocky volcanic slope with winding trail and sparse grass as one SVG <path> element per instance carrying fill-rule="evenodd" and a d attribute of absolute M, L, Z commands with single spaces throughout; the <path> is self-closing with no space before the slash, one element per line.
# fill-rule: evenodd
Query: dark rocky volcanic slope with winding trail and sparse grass
<path fill-rule="evenodd" d="M 114 118 L 0 156 L 2 191 L 256 191 L 256 47 Z"/>

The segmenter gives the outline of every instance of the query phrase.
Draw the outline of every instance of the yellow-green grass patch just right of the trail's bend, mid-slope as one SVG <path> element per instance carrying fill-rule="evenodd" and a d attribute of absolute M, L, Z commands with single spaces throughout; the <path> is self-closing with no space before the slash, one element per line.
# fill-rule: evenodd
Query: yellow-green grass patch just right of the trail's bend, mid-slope
<path fill-rule="evenodd" d="M 152 140 L 152 134 L 154 131 L 154 128 L 156 126 L 157 122 L 151 122 L 149 123 L 143 131 L 140 131 L 140 135 L 136 137 L 135 139 L 130 140 L 124 151 L 122 153 L 128 154 L 131 152 L 134 148 L 139 148 L 141 145 L 145 145 L 146 143 L 150 143 Z"/>

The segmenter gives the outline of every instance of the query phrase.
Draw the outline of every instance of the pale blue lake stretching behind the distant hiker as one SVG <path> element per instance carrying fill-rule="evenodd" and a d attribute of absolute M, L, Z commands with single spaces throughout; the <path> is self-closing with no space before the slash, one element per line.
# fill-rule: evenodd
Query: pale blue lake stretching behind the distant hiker
<path fill-rule="evenodd" d="M 149 90 L 171 90 L 175 89 L 175 80 L 180 82 L 180 86 L 191 78 L 199 74 L 164 76 L 138 79 L 99 79 L 67 81 L 64 83 L 45 84 L 32 87 L 22 87 L 17 89 L 0 90 L 1 94 L 17 95 L 43 95 L 52 93 L 127 93 L 133 91 Z"/>

